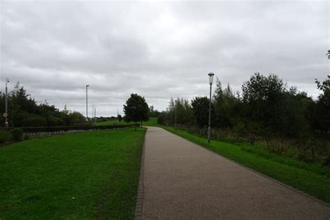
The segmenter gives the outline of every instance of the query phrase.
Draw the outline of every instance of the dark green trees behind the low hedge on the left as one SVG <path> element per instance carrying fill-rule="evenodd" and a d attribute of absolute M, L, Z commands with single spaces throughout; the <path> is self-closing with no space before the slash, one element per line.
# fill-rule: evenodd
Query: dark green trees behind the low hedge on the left
<path fill-rule="evenodd" d="M 0 95 L 0 109 L 5 109 L 5 93 Z M 1 126 L 4 118 L 0 117 Z M 10 127 L 67 126 L 86 124 L 86 118 L 77 111 L 66 108 L 60 111 L 47 102 L 38 104 L 23 86 L 15 85 L 8 94 L 8 123 Z"/>

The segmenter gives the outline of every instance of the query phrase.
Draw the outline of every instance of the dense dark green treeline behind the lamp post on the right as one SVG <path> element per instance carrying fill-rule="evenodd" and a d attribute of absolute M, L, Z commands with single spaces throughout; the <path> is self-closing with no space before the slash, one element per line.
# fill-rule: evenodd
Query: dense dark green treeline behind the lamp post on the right
<path fill-rule="evenodd" d="M 329 138 L 330 77 L 323 83 L 316 81 L 315 86 L 321 92 L 317 100 L 295 86 L 288 87 L 276 74 L 253 74 L 243 83 L 242 93 L 234 93 L 229 85 L 223 88 L 217 79 L 212 97 L 212 134 L 220 139 L 245 137 L 251 143 L 260 138 L 295 139 L 304 142 L 303 146 L 310 143 L 308 149 L 313 148 L 316 137 Z M 178 125 L 204 135 L 209 103 L 208 97 L 195 97 L 191 102 L 171 98 L 168 113 L 160 113 L 158 123 L 166 125 L 167 121 L 173 126 L 176 107 Z M 329 154 L 329 142 L 324 145 Z"/>

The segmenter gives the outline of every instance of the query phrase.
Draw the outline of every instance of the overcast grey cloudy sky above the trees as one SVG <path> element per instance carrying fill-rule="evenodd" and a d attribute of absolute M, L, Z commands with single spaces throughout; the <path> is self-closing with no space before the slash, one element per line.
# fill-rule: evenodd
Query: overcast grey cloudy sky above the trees
<path fill-rule="evenodd" d="M 131 93 L 159 111 L 208 95 L 209 72 L 241 91 L 278 74 L 314 99 L 329 74 L 329 1 L 3 1 L 0 91 L 123 114 Z"/>

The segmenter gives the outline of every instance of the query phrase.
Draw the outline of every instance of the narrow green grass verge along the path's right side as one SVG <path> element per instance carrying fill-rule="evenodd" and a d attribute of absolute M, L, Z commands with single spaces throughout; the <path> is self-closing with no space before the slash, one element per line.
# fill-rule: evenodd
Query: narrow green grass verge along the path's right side
<path fill-rule="evenodd" d="M 329 166 L 301 162 L 298 159 L 278 155 L 265 149 L 251 146 L 248 143 L 233 144 L 212 140 L 209 144 L 204 137 L 179 129 L 175 131 L 173 127 L 159 127 L 213 152 L 217 152 L 219 155 L 223 155 L 223 157 L 252 168 L 259 173 L 288 184 L 295 189 L 315 196 L 326 203 L 330 203 Z"/>

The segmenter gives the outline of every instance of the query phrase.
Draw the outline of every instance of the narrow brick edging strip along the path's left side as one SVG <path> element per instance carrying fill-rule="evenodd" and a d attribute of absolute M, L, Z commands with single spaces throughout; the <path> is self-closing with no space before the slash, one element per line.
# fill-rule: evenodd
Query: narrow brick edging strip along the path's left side
<path fill-rule="evenodd" d="M 146 135 L 148 132 L 148 128 L 146 128 L 146 134 L 144 135 L 143 147 L 142 147 L 142 156 L 141 156 L 141 168 L 140 168 L 140 177 L 139 177 L 139 186 L 137 190 L 136 196 L 136 205 L 135 205 L 135 213 L 134 220 L 142 219 L 142 211 L 143 211 L 143 180 L 144 180 L 144 151 L 146 146 Z"/>

